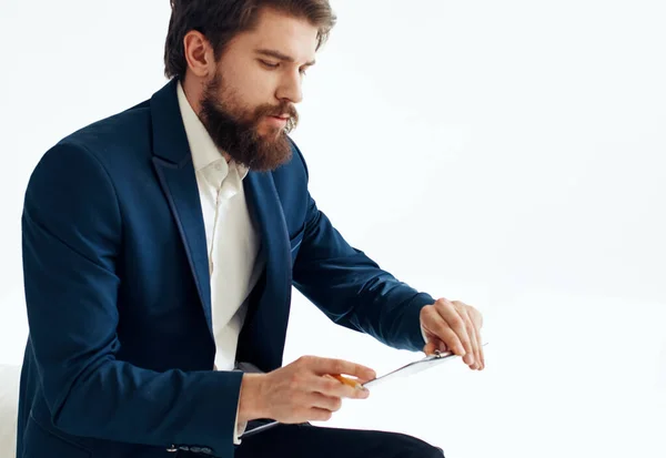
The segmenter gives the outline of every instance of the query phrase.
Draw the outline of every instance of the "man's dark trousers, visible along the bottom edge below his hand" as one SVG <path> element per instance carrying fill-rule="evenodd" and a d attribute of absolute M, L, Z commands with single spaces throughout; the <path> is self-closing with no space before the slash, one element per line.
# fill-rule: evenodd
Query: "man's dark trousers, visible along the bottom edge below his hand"
<path fill-rule="evenodd" d="M 244 438 L 235 458 L 443 458 L 442 449 L 395 432 L 279 425 Z"/>

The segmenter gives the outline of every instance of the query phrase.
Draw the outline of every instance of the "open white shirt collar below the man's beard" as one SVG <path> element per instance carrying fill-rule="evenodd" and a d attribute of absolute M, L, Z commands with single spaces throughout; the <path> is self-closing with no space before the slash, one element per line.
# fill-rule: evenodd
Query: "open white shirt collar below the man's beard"
<path fill-rule="evenodd" d="M 190 102 L 185 96 L 185 91 L 183 91 L 183 86 L 181 85 L 180 81 L 178 82 L 176 92 L 178 104 L 183 119 L 185 134 L 188 135 L 188 143 L 190 144 L 190 151 L 192 152 L 192 163 L 194 165 L 194 170 L 198 172 L 202 171 L 213 163 L 216 163 L 218 166 L 221 165 L 222 169 L 234 166 L 238 171 L 239 177 L 243 180 L 248 175 L 248 167 L 236 163 L 233 160 L 230 161 L 229 165 L 226 164 L 222 152 L 220 149 L 218 149 L 213 142 L 213 139 L 211 139 L 211 135 L 208 133 L 205 126 L 192 109 L 192 105 L 190 105 Z"/>

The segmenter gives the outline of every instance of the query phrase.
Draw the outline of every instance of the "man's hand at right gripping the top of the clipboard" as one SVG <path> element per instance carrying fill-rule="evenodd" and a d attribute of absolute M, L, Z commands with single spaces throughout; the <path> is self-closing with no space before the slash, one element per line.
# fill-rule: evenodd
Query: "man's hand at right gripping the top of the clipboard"
<path fill-rule="evenodd" d="M 481 313 L 460 301 L 438 299 L 421 309 L 421 328 L 427 340 L 423 350 L 426 355 L 435 350 L 453 352 L 463 356 L 472 369 L 483 369 L 485 359 L 481 327 Z"/>

